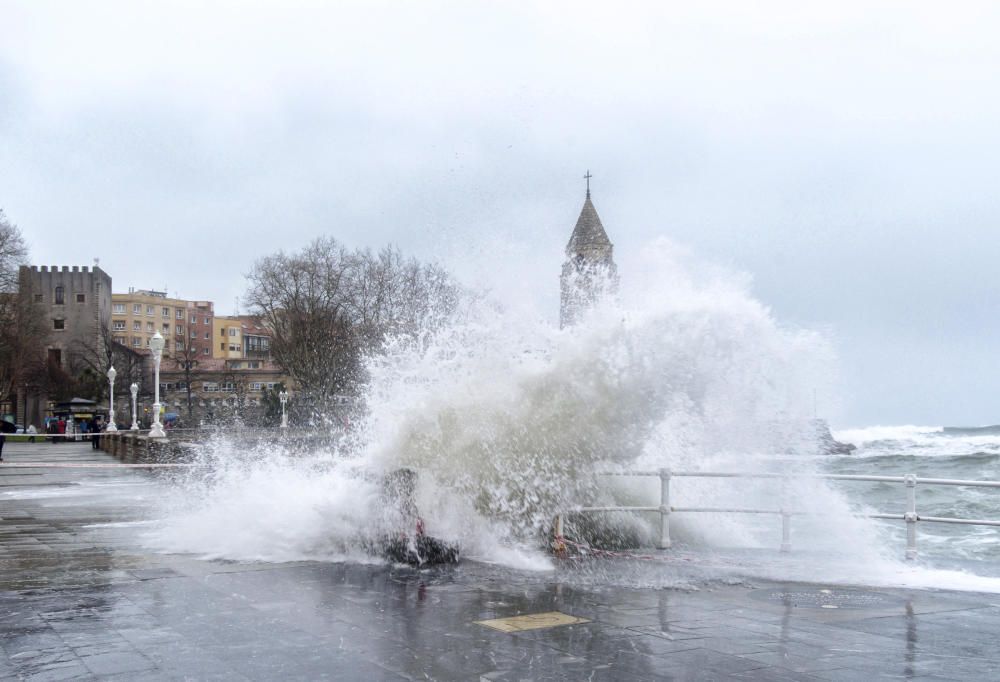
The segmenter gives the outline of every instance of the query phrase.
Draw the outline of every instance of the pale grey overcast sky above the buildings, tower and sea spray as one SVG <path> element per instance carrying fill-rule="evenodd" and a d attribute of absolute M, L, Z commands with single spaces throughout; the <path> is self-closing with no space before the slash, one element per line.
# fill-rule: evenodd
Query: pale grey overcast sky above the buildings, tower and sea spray
<path fill-rule="evenodd" d="M 998 8 L 0 0 L 0 207 L 220 313 L 330 234 L 554 320 L 589 168 L 620 263 L 669 237 L 831 335 L 837 425 L 998 423 Z"/>

